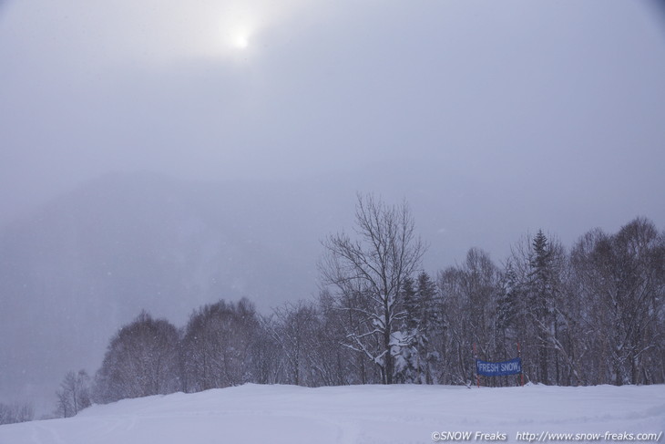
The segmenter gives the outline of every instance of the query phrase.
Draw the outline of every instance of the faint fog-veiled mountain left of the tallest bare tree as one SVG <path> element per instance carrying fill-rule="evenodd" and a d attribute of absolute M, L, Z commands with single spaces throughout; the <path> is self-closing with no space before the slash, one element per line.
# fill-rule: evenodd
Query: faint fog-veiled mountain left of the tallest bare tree
<path fill-rule="evenodd" d="M 248 296 L 263 313 L 316 293 L 335 207 L 312 187 L 112 174 L 0 232 L 0 398 L 45 398 L 94 372 L 146 309 L 176 325 Z M 353 211 L 353 192 L 344 203 Z M 326 211 L 325 209 L 328 209 Z"/>

